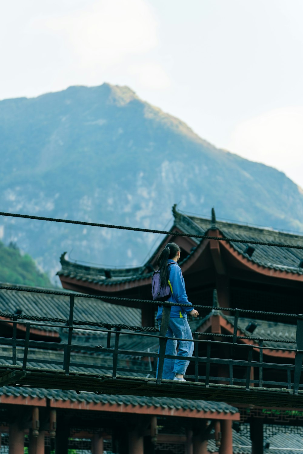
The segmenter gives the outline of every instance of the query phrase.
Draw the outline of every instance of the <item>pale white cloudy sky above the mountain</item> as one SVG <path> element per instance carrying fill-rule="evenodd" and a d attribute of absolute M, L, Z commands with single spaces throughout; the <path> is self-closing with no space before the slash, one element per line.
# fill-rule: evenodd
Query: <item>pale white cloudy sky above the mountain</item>
<path fill-rule="evenodd" d="M 128 85 L 303 187 L 302 0 L 0 0 L 0 99 Z"/>

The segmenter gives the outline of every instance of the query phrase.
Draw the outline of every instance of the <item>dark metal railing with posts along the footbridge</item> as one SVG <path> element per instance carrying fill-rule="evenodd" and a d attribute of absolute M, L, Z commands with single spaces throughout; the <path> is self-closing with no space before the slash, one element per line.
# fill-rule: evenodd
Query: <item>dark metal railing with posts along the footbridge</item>
<path fill-rule="evenodd" d="M 5 287 L 8 289 L 8 287 Z M 9 287 L 11 290 L 21 290 L 19 288 Z M 38 291 L 39 292 L 39 291 Z M 48 293 L 47 291 L 41 291 L 41 293 Z M 53 292 L 50 292 L 51 294 Z M 59 292 L 58 292 L 59 293 Z M 248 390 L 251 386 L 257 386 L 259 388 L 271 388 L 271 389 L 283 389 L 288 390 L 289 393 L 298 395 L 299 389 L 303 388 L 303 384 L 300 383 L 301 371 L 302 371 L 302 360 L 303 360 L 303 316 L 287 314 L 297 319 L 297 336 L 296 341 L 287 341 L 288 344 L 293 344 L 293 348 L 278 347 L 278 350 L 285 352 L 293 352 L 294 360 L 293 364 L 285 364 L 283 358 L 279 358 L 278 362 L 270 362 L 264 360 L 264 350 L 277 350 L 277 347 L 271 347 L 263 345 L 264 341 L 275 341 L 285 344 L 285 340 L 281 341 L 278 339 L 261 339 L 254 337 L 238 336 L 238 317 L 241 313 L 239 309 L 227 309 L 227 308 L 215 308 L 216 310 L 231 311 L 234 312 L 234 323 L 233 323 L 233 335 L 222 335 L 212 333 L 200 333 L 193 332 L 194 342 L 194 355 L 193 357 L 184 357 L 178 355 L 165 355 L 166 344 L 169 338 L 166 335 L 170 310 L 173 303 L 165 302 L 163 304 L 163 316 L 161 322 L 160 333 L 156 328 L 139 327 L 139 326 L 128 326 L 128 325 L 114 325 L 102 322 L 93 321 L 75 321 L 74 320 L 74 304 L 75 297 L 83 297 L 83 295 L 76 294 L 64 294 L 70 297 L 70 309 L 69 319 L 47 319 L 47 317 L 35 317 L 17 314 L 5 314 L 0 313 L 6 320 L 0 320 L 1 324 L 10 323 L 13 326 L 12 337 L 0 337 L 0 345 L 6 348 L 6 354 L 2 351 L 0 355 L 0 368 L 10 369 L 18 368 L 22 371 L 32 370 L 33 366 L 30 364 L 35 362 L 39 364 L 47 365 L 48 369 L 60 370 L 65 375 L 69 375 L 73 368 L 77 370 L 99 370 L 100 373 L 104 373 L 104 370 L 109 371 L 112 378 L 119 376 L 146 376 L 147 374 L 156 379 L 155 384 L 160 385 L 163 381 L 163 365 L 165 358 L 171 359 L 183 359 L 189 360 L 194 370 L 193 375 L 186 375 L 191 382 L 203 382 L 205 386 L 209 386 L 210 383 L 226 383 L 227 385 L 234 387 L 242 387 Z M 89 296 L 86 296 L 89 297 Z M 91 296 L 95 298 L 95 296 Z M 147 301 L 146 301 L 147 302 Z M 149 301 L 150 302 L 150 301 Z M 198 307 L 198 306 L 195 306 Z M 206 308 L 207 306 L 199 306 Z M 214 309 L 214 308 L 212 308 Z M 243 311 L 246 314 L 247 310 Z M 252 311 L 255 314 L 255 311 Z M 267 313 L 268 314 L 268 313 Z M 274 315 L 274 314 L 273 314 Z M 17 325 L 25 326 L 25 338 L 20 339 L 17 337 Z M 36 341 L 30 339 L 30 332 L 32 328 L 40 329 L 59 329 L 67 330 L 67 341 L 55 343 L 53 341 Z M 99 335 L 103 340 L 106 339 L 106 346 L 100 345 L 82 345 L 73 343 L 73 333 L 77 330 L 82 331 L 93 331 L 95 335 Z M 140 342 L 144 338 L 149 338 L 149 341 L 153 345 L 159 344 L 158 351 L 146 350 L 135 350 L 121 348 L 121 338 L 123 336 L 135 336 L 136 345 L 140 345 Z M 205 339 L 208 336 L 211 339 Z M 253 344 L 241 343 L 244 339 L 254 341 Z M 146 340 L 146 339 L 145 339 Z M 178 339 L 175 339 L 178 341 Z M 219 347 L 219 348 L 218 348 Z M 219 357 L 218 351 L 223 351 L 228 348 L 229 358 Z M 37 351 L 43 352 L 48 351 L 52 353 L 52 359 L 40 358 L 36 356 Z M 157 348 L 155 348 L 157 350 Z M 199 355 L 199 350 L 204 350 L 205 354 Z M 215 350 L 215 354 L 214 353 Z M 83 355 L 78 355 L 76 352 L 83 352 Z M 236 356 L 240 356 L 240 359 L 233 357 L 234 352 L 237 352 Z M 254 357 L 253 357 L 253 352 Z M 90 355 L 88 355 L 90 354 Z M 93 356 L 91 354 L 94 354 Z M 219 354 L 220 355 L 220 354 Z M 224 356 L 224 355 L 223 355 Z M 258 356 L 256 358 L 256 356 Z M 129 365 L 129 358 L 141 357 L 150 359 L 152 364 L 151 370 L 147 369 L 147 361 L 140 361 L 139 366 L 137 364 Z M 153 361 L 151 361 L 153 360 Z M 156 373 L 157 361 L 158 375 Z M 138 361 L 137 361 L 138 362 Z M 225 375 L 211 375 L 211 368 L 224 367 Z M 258 370 L 258 379 L 251 378 L 251 368 Z M 36 370 L 43 368 L 38 367 Z M 203 375 L 201 375 L 201 370 Z M 234 371 L 237 371 L 234 374 Z M 283 375 L 283 380 L 265 380 L 264 370 L 272 370 L 278 373 L 278 378 Z M 221 374 L 222 375 L 222 374 Z"/>

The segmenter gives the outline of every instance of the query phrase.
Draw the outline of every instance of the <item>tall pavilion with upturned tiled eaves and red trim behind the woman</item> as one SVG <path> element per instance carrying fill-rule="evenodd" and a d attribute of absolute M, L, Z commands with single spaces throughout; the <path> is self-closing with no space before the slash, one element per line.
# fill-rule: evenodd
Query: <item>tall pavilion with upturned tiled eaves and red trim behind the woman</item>
<path fill-rule="evenodd" d="M 178 212 L 175 206 L 173 214 L 174 224 L 170 229 L 171 232 L 225 237 L 244 242 L 168 235 L 144 266 L 124 270 L 81 266 L 67 261 L 63 254 L 62 268 L 58 273 L 62 285 L 65 289 L 102 296 L 150 299 L 151 276 L 158 252 L 167 242 L 175 241 L 182 250 L 182 261 L 179 265 L 184 275 L 189 301 L 193 304 L 214 306 L 212 311 L 200 313 L 199 319 L 191 322 L 192 329 L 195 331 L 209 333 L 210 337 L 212 333 L 233 333 L 233 316 L 226 311 L 217 310 L 216 307 L 290 314 L 302 312 L 302 250 L 266 245 L 266 243 L 278 243 L 302 246 L 302 236 L 269 228 L 221 222 L 216 219 L 214 209 L 211 219 L 185 215 Z M 249 241 L 264 244 L 253 245 Z M 140 307 L 142 325 L 154 326 L 155 314 L 152 306 L 125 304 L 129 308 L 130 306 Z M 285 360 L 285 363 L 291 363 L 294 360 L 294 353 L 281 351 L 279 347 L 291 347 L 292 344 L 289 342 L 295 341 L 296 326 L 293 325 L 293 320 L 279 319 L 278 316 L 269 319 L 266 314 L 259 314 L 256 319 L 242 317 L 238 321 L 238 335 L 248 338 L 276 339 L 277 342 L 264 341 L 264 346 L 275 348 L 263 350 L 266 360 L 274 363 L 278 357 L 279 360 Z M 247 339 L 243 342 L 258 345 L 258 341 L 255 340 Z M 256 353 L 257 351 L 253 352 L 253 354 Z M 228 347 L 218 352 L 219 357 L 223 355 L 228 358 L 228 354 Z M 206 355 L 206 351 L 199 351 L 199 356 L 203 355 Z M 224 377 L 224 367 L 222 366 L 221 370 L 218 368 L 217 376 Z M 276 378 L 276 372 L 273 370 L 265 371 L 264 375 L 267 380 L 274 381 Z M 258 370 L 252 368 L 251 380 L 254 379 L 258 379 Z M 270 424 L 275 425 L 276 420 L 268 419 L 267 410 L 262 407 L 262 402 L 259 407 L 249 411 L 243 405 L 240 411 L 243 420 L 249 420 L 252 453 L 261 454 L 266 438 L 263 423 L 266 424 L 269 421 Z M 285 411 L 288 410 L 285 409 Z M 298 409 L 298 418 L 301 417 L 301 410 Z M 279 421 L 283 423 L 283 416 L 281 418 Z M 289 423 L 287 418 L 285 421 Z"/>

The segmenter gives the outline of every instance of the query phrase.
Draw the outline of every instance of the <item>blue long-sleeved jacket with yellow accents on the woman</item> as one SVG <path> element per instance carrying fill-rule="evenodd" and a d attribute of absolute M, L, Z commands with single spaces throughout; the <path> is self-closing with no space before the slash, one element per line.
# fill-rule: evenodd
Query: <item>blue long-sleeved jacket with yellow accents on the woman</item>
<path fill-rule="evenodd" d="M 169 296 L 169 301 L 172 301 L 173 303 L 184 303 L 184 304 L 190 304 L 190 307 L 181 307 L 181 306 L 172 306 L 171 311 L 170 311 L 170 317 L 171 318 L 179 318 L 179 317 L 184 317 L 187 318 L 187 314 L 191 312 L 194 309 L 194 306 L 189 302 L 187 295 L 186 295 L 186 290 L 185 290 L 185 284 L 184 284 L 184 278 L 182 276 L 182 271 L 178 263 L 176 263 L 174 260 L 169 259 L 167 261 L 167 264 L 171 263 L 172 265 L 169 265 L 169 283 L 172 289 L 172 295 Z M 159 320 L 162 318 L 162 306 L 159 306 L 158 308 L 158 313 L 156 319 Z"/>

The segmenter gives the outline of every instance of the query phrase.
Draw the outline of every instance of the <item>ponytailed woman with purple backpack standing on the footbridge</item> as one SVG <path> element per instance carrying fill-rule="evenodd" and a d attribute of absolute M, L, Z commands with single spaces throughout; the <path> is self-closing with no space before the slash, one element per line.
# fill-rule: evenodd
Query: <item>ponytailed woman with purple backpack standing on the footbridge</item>
<path fill-rule="evenodd" d="M 181 268 L 177 264 L 181 250 L 176 243 L 168 243 L 160 253 L 157 265 L 160 270 L 161 286 L 169 284 L 171 295 L 169 301 L 173 303 L 191 304 L 187 298 L 184 278 Z M 170 311 L 169 328 L 167 337 L 177 339 L 193 339 L 187 315 L 198 317 L 199 313 L 193 307 L 172 306 Z M 157 313 L 159 327 L 162 320 L 162 306 L 159 306 Z M 178 356 L 192 356 L 194 352 L 194 342 L 178 341 Z M 177 341 L 168 340 L 166 344 L 166 355 L 177 355 Z M 164 359 L 162 378 L 169 380 L 184 380 L 184 374 L 189 365 L 189 360 Z M 158 372 L 158 369 L 157 369 Z"/>

